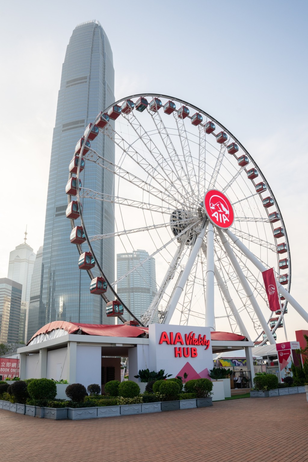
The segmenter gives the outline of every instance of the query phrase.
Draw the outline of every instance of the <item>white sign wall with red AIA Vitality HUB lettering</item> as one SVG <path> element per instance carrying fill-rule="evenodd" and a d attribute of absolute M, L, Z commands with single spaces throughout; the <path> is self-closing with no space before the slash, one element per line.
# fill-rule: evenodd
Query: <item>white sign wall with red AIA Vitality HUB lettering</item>
<path fill-rule="evenodd" d="M 172 377 L 208 378 L 213 368 L 211 332 L 208 327 L 151 324 L 149 369 L 164 369 Z"/>

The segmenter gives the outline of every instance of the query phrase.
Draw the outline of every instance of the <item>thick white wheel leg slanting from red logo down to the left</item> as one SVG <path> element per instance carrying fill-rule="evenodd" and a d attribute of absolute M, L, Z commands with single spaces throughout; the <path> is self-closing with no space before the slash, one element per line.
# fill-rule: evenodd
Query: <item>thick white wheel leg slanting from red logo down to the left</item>
<path fill-rule="evenodd" d="M 178 301 L 180 300 L 180 297 L 181 297 L 181 294 L 183 292 L 183 289 L 185 287 L 185 284 L 186 284 L 186 281 L 188 279 L 188 276 L 192 270 L 192 267 L 193 267 L 193 263 L 195 261 L 195 259 L 197 258 L 197 255 L 198 255 L 198 252 L 199 250 L 201 249 L 201 245 L 203 243 L 203 239 L 204 239 L 204 236 L 205 236 L 205 231 L 206 231 L 206 227 L 207 227 L 207 221 L 203 224 L 203 227 L 201 228 L 201 231 L 200 231 L 200 234 L 199 236 L 196 238 L 196 241 L 194 243 L 194 246 L 193 246 L 193 249 L 187 259 L 187 263 L 186 263 L 186 266 L 183 270 L 183 273 L 181 275 L 181 278 L 178 282 L 178 285 L 175 287 L 175 292 L 170 300 L 170 304 L 169 304 L 169 310 L 168 310 L 168 313 L 166 314 L 165 316 L 165 319 L 164 319 L 164 324 L 169 324 L 170 320 L 171 320 L 171 317 L 174 313 L 174 310 L 176 308 L 176 305 L 178 304 Z"/>

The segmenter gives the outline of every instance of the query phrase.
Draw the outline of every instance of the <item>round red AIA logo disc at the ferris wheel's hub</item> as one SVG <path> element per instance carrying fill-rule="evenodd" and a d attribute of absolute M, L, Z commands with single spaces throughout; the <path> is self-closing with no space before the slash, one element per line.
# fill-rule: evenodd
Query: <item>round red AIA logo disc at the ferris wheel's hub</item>
<path fill-rule="evenodd" d="M 205 212 L 213 225 L 227 229 L 234 221 L 234 212 L 229 199 L 217 189 L 209 189 L 204 199 Z"/>

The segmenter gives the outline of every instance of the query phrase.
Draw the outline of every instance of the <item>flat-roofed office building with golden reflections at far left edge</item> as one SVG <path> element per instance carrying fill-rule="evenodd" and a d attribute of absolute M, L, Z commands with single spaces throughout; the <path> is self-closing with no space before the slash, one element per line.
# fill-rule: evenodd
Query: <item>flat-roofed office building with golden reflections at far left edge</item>
<path fill-rule="evenodd" d="M 16 281 L 0 278 L 0 342 L 18 343 L 22 288 Z"/>

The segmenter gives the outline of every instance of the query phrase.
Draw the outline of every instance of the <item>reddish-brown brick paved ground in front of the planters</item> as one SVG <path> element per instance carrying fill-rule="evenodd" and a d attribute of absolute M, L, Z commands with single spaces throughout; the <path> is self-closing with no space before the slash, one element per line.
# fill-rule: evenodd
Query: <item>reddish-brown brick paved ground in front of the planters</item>
<path fill-rule="evenodd" d="M 304 393 L 91 420 L 0 411 L 0 459 L 18 462 L 307 462 Z"/>

